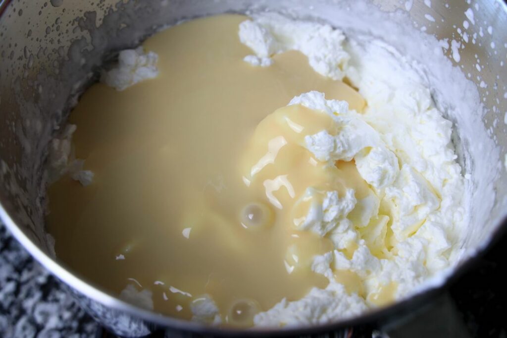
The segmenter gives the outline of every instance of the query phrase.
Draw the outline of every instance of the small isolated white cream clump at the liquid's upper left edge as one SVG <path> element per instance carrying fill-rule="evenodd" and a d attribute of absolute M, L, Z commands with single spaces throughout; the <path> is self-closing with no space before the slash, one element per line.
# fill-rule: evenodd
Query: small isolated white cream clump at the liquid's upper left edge
<path fill-rule="evenodd" d="M 103 72 L 101 81 L 116 90 L 125 90 L 138 82 L 157 77 L 157 61 L 156 53 L 144 53 L 142 47 L 122 50 L 118 54 L 118 66 Z"/>

